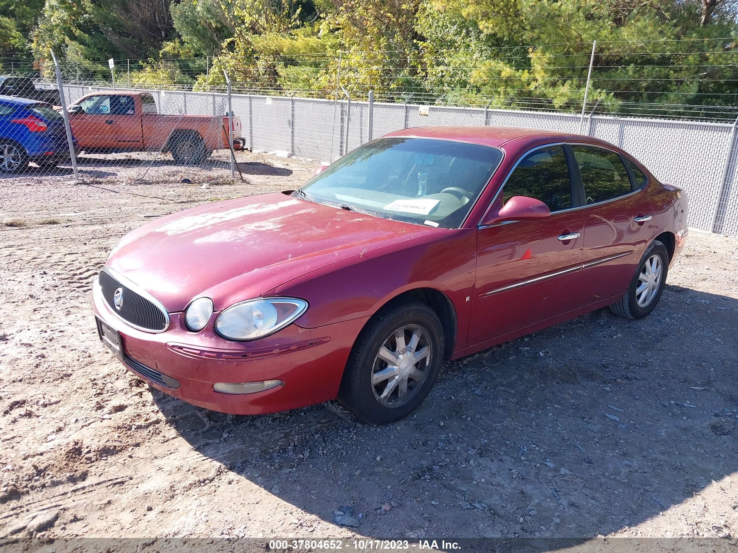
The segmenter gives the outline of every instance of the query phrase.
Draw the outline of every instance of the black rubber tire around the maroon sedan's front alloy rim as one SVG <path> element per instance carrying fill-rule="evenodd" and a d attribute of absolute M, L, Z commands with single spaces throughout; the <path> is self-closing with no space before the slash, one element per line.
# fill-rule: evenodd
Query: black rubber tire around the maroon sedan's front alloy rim
<path fill-rule="evenodd" d="M 424 380 L 420 383 L 413 380 L 414 387 L 410 390 L 409 399 L 398 406 L 386 406 L 380 403 L 373 391 L 376 387 L 372 385 L 372 374 L 379 349 L 393 337 L 396 330 L 405 326 L 417 328 L 424 336 L 424 342 L 430 346 L 430 357 L 425 362 Z M 412 330 L 407 332 L 412 333 Z M 430 393 L 441 372 L 443 355 L 444 329 L 435 311 L 421 302 L 387 305 L 370 319 L 356 338 L 343 372 L 338 400 L 355 417 L 372 424 L 382 425 L 407 417 Z M 420 366 L 421 363 L 416 365 Z M 410 383 L 410 380 L 407 382 Z M 408 386 L 405 388 L 408 389 Z"/>

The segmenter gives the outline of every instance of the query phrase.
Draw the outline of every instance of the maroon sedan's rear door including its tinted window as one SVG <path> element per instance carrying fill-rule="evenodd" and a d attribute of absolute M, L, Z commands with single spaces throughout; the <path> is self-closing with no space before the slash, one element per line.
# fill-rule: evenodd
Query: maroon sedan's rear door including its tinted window
<path fill-rule="evenodd" d="M 584 198 L 584 253 L 576 307 L 624 293 L 652 227 L 651 205 L 627 159 L 615 150 L 570 145 Z M 640 171 L 639 171 L 640 173 Z"/>

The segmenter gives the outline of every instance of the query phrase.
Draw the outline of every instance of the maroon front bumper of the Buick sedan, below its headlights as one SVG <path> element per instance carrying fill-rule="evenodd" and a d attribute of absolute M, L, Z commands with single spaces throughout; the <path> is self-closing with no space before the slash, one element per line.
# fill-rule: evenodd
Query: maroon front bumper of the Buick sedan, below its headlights
<path fill-rule="evenodd" d="M 199 333 L 187 330 L 183 313 L 170 313 L 165 332 L 147 333 L 112 313 L 97 282 L 93 296 L 94 313 L 120 333 L 128 370 L 187 403 L 232 414 L 273 413 L 334 399 L 348 354 L 366 321 L 354 319 L 314 329 L 291 324 L 260 340 L 232 342 L 212 332 L 217 313 Z M 218 382 L 262 380 L 283 384 L 252 394 L 213 390 Z"/>

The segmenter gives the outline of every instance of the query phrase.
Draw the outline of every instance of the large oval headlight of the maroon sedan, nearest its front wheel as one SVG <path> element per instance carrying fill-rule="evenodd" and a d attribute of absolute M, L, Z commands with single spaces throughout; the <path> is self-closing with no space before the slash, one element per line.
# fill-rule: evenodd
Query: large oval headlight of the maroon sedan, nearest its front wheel
<path fill-rule="evenodd" d="M 224 309 L 215 319 L 215 332 L 229 340 L 256 340 L 291 324 L 307 308 L 303 299 L 248 299 Z"/>

